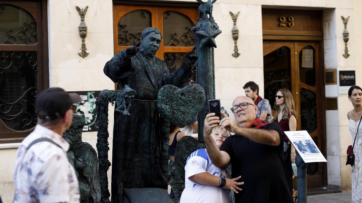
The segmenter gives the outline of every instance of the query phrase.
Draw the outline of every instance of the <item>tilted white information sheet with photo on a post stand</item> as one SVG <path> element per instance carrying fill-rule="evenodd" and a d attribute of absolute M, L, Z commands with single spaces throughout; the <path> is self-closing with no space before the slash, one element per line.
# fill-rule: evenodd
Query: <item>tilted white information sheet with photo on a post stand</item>
<path fill-rule="evenodd" d="M 285 131 L 284 133 L 305 163 L 327 162 L 306 130 Z"/>

